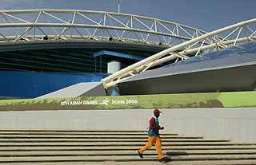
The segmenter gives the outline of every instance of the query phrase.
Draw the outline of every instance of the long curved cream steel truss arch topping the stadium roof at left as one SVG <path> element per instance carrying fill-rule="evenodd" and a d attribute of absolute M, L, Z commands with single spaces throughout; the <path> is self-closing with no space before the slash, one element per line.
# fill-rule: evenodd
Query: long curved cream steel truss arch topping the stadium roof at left
<path fill-rule="evenodd" d="M 0 43 L 93 39 L 171 47 L 205 33 L 190 26 L 134 14 L 90 10 L 0 10 Z M 210 44 L 209 41 L 206 43 Z"/>

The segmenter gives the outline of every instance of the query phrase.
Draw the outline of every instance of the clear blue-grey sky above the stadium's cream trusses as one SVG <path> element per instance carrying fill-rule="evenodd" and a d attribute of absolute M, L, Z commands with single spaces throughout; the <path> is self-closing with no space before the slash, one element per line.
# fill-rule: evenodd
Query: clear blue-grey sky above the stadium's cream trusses
<path fill-rule="evenodd" d="M 136 14 L 207 32 L 256 18 L 256 0 L 0 0 L 0 10 L 98 10 Z"/>

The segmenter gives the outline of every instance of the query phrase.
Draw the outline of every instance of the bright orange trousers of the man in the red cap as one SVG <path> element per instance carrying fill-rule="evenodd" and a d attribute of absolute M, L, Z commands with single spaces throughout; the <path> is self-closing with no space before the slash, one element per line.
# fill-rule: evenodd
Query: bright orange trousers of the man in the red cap
<path fill-rule="evenodd" d="M 162 143 L 160 136 L 149 136 L 149 142 L 144 147 L 142 147 L 142 149 L 139 150 L 139 153 L 142 154 L 144 151 L 146 151 L 153 145 L 155 146 L 155 149 L 158 152 L 159 159 L 162 159 Z"/>

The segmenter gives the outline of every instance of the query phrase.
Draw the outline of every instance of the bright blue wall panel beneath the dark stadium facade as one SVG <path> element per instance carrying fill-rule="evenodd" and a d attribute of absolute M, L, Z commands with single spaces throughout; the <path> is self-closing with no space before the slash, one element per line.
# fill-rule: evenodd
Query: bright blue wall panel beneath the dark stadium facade
<path fill-rule="evenodd" d="M 107 73 L 0 72 L 0 96 L 34 98 L 80 82 L 97 82 Z"/>

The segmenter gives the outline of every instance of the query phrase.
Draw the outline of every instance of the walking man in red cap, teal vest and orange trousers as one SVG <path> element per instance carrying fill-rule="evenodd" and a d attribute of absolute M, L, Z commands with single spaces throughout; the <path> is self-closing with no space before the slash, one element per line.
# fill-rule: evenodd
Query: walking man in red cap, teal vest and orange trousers
<path fill-rule="evenodd" d="M 160 127 L 158 117 L 160 116 L 161 111 L 158 109 L 154 109 L 154 116 L 150 119 L 150 129 L 148 132 L 148 139 L 149 142 L 142 147 L 142 149 L 138 150 L 138 156 L 140 158 L 143 158 L 142 153 L 149 149 L 150 147 L 155 145 L 155 149 L 158 152 L 158 157 L 159 157 L 159 162 L 164 162 L 165 159 L 162 155 L 162 143 L 161 143 L 161 138 L 159 135 L 159 130 L 163 130 L 163 127 Z"/>

